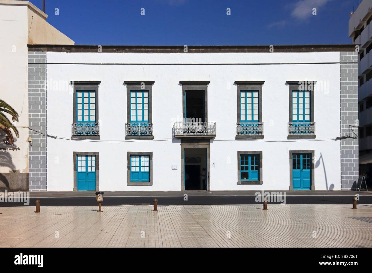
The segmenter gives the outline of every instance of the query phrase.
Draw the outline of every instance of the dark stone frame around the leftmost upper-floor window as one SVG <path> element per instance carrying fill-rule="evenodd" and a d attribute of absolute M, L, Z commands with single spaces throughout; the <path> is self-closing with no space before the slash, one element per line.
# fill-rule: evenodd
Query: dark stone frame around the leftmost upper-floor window
<path fill-rule="evenodd" d="M 73 123 L 77 122 L 77 109 L 76 109 L 76 91 L 95 91 L 95 107 L 96 107 L 96 122 L 98 123 L 99 116 L 99 92 L 98 87 L 100 85 L 101 81 L 71 81 L 71 85 L 73 86 Z M 71 139 L 100 139 L 100 136 L 73 136 L 71 135 Z"/>

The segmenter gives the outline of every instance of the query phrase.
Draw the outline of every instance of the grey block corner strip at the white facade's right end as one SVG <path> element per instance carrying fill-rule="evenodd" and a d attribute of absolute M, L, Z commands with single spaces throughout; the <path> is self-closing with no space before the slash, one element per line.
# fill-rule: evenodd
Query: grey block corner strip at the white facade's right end
<path fill-rule="evenodd" d="M 359 177 L 357 61 L 357 52 L 340 52 L 340 136 L 350 136 L 340 140 L 341 190 L 355 189 Z"/>

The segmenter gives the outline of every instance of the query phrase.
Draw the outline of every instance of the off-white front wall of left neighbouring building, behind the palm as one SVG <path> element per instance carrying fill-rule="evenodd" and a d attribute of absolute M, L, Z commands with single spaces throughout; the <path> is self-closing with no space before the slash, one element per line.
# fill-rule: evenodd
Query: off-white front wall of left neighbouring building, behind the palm
<path fill-rule="evenodd" d="M 28 126 L 28 8 L 0 4 L 0 98 L 18 112 L 16 126 Z M 0 130 L 0 173 L 10 170 L 28 173 L 28 129 L 19 128 L 19 136 L 12 150 L 12 146 L 4 144 L 6 135 Z"/>

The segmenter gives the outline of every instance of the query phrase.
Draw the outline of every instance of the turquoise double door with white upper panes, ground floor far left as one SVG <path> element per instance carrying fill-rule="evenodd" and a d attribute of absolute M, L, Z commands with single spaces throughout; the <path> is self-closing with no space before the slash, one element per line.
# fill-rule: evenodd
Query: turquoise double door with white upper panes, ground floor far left
<path fill-rule="evenodd" d="M 77 190 L 96 190 L 96 156 L 77 155 Z"/>

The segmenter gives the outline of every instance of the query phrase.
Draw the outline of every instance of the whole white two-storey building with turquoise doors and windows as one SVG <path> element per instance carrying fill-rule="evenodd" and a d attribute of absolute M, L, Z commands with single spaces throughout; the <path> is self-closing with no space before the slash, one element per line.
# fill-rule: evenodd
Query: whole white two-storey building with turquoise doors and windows
<path fill-rule="evenodd" d="M 355 46 L 270 49 L 29 45 L 47 79 L 30 190 L 351 189 Z"/>

